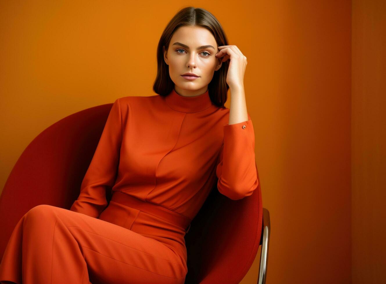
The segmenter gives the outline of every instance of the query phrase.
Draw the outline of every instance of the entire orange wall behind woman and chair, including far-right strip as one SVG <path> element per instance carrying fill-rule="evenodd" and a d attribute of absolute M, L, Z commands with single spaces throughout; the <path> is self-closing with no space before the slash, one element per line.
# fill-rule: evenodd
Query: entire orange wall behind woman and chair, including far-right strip
<path fill-rule="evenodd" d="M 248 59 L 247 109 L 271 214 L 267 283 L 384 279 L 380 0 L 2 1 L 0 188 L 54 122 L 118 97 L 153 95 L 159 37 L 187 5 L 212 12 Z M 256 283 L 259 255 L 242 283 Z"/>

